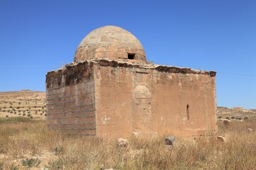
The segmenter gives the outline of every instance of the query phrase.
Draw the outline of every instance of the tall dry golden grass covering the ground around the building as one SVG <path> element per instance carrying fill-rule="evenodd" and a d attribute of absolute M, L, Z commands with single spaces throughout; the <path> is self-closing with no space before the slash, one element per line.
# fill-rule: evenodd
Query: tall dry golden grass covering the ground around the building
<path fill-rule="evenodd" d="M 0 169 L 26 169 L 22 161 L 40 159 L 33 169 L 255 169 L 256 120 L 218 125 L 216 136 L 178 138 L 164 147 L 164 136 L 129 139 L 119 148 L 115 139 L 69 135 L 46 130 L 44 121 L 0 121 Z M 2 165 L 2 166 L 1 166 Z"/>

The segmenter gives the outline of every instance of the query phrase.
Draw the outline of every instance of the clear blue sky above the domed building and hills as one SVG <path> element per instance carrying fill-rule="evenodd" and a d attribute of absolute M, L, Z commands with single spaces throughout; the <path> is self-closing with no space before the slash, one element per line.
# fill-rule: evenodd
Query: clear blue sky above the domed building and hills
<path fill-rule="evenodd" d="M 0 0 L 0 91 L 45 91 L 91 30 L 133 33 L 148 60 L 215 70 L 217 104 L 256 108 L 256 1 Z"/>

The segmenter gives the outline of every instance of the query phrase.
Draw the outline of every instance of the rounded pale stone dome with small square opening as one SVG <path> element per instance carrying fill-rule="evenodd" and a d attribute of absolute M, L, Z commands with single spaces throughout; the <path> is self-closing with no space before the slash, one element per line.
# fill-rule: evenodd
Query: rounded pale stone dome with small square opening
<path fill-rule="evenodd" d="M 146 62 L 146 55 L 139 40 L 129 31 L 117 26 L 103 26 L 92 30 L 80 42 L 74 61 L 93 58 Z"/>

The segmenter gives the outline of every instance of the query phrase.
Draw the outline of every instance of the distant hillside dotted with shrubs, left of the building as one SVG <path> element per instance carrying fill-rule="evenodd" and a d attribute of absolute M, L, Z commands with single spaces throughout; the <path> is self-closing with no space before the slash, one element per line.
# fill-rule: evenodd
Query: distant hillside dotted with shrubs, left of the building
<path fill-rule="evenodd" d="M 0 92 L 0 118 L 27 116 L 46 118 L 46 93 L 41 91 Z"/>

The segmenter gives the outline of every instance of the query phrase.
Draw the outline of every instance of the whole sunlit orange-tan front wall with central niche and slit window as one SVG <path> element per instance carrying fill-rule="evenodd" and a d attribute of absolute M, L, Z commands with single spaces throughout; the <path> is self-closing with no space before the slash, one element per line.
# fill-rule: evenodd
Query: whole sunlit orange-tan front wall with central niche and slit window
<path fill-rule="evenodd" d="M 98 136 L 215 130 L 215 72 L 105 60 L 94 68 Z"/>

